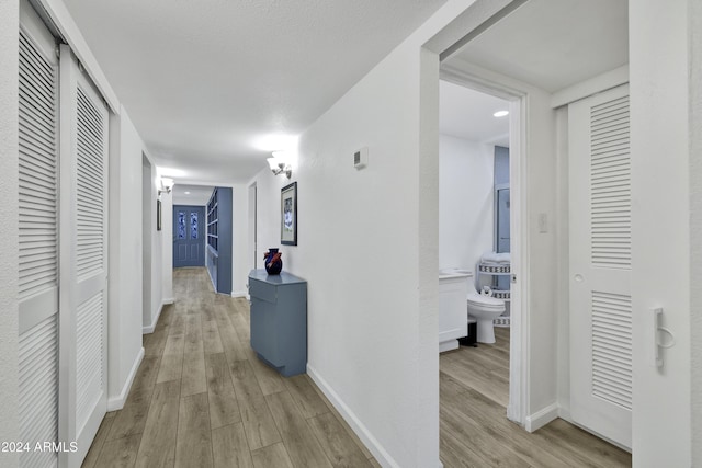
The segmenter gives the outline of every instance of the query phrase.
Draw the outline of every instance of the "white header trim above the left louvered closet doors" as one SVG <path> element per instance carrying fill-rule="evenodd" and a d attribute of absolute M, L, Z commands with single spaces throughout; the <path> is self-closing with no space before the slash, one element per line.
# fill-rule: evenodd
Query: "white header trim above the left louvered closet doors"
<path fill-rule="evenodd" d="M 52 22 L 68 43 L 73 54 L 76 54 L 76 57 L 78 57 L 83 69 L 100 90 L 100 94 L 105 99 L 112 112 L 120 115 L 120 100 L 64 2 L 60 0 L 38 0 L 38 3 L 41 3 L 42 8 L 52 19 Z"/>

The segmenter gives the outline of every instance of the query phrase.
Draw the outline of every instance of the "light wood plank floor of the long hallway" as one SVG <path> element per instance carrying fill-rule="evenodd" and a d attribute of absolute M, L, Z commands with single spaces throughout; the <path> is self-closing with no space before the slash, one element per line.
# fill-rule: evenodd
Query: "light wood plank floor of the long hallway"
<path fill-rule="evenodd" d="M 176 270 L 173 288 L 83 467 L 380 466 L 307 375 L 258 359 L 246 299 L 215 294 L 204 269 Z"/>

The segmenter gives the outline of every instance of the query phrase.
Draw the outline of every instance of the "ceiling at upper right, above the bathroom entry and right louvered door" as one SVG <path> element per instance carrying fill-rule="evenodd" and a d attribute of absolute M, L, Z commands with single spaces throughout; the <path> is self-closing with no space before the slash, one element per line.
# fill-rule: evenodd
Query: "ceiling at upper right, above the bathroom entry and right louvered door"
<path fill-rule="evenodd" d="M 559 91 L 629 62 L 627 9 L 626 0 L 530 0 L 448 62 Z"/>

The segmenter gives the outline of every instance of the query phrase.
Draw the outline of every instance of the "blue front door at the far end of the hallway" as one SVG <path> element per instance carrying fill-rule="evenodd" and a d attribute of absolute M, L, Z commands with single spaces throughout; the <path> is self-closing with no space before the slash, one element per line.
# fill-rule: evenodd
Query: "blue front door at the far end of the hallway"
<path fill-rule="evenodd" d="M 173 206 L 173 267 L 205 266 L 204 206 Z"/>

